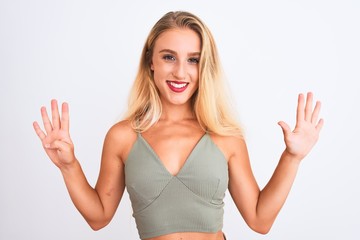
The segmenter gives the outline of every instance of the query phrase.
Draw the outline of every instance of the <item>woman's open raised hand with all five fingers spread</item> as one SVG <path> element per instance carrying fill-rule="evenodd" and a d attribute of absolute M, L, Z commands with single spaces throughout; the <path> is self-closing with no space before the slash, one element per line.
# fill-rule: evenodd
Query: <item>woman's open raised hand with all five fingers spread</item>
<path fill-rule="evenodd" d="M 324 120 L 318 120 L 321 103 L 316 102 L 313 109 L 313 94 L 307 93 L 306 101 L 303 94 L 299 94 L 296 125 L 291 131 L 288 124 L 280 121 L 278 124 L 283 130 L 286 150 L 296 159 L 303 159 L 312 149 L 319 138 Z"/>

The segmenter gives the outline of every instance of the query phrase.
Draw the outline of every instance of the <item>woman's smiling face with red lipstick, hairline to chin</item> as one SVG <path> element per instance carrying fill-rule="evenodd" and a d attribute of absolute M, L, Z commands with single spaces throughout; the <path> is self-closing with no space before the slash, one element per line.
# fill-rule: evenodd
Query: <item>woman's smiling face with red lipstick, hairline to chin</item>
<path fill-rule="evenodd" d="M 172 29 L 155 42 L 151 70 L 163 103 L 190 103 L 199 86 L 200 37 L 191 29 Z"/>

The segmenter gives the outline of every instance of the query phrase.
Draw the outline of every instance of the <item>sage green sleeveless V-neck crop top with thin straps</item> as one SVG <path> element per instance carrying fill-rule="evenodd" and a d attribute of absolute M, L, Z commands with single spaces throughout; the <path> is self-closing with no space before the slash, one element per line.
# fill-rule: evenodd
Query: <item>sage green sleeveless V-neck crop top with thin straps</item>
<path fill-rule="evenodd" d="M 223 226 L 228 165 L 205 133 L 173 176 L 138 133 L 125 162 L 125 184 L 141 239 Z"/>

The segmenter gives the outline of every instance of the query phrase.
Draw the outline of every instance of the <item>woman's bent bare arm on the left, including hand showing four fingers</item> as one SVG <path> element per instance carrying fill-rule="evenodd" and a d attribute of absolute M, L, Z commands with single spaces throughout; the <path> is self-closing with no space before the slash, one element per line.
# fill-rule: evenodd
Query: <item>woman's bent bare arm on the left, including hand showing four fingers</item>
<path fill-rule="evenodd" d="M 34 122 L 44 150 L 52 162 L 60 169 L 70 197 L 94 229 L 107 225 L 115 214 L 125 188 L 124 164 L 117 144 L 119 137 L 110 130 L 104 142 L 101 169 L 95 188 L 91 187 L 74 155 L 74 145 L 69 134 L 69 109 L 63 103 L 60 117 L 57 102 L 51 102 L 52 121 L 45 107 L 41 115 L 45 132 Z"/>

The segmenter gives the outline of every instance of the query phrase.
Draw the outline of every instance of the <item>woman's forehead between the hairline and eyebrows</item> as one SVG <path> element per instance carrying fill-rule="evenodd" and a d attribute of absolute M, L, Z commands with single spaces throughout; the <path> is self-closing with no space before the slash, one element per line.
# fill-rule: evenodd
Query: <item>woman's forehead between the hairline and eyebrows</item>
<path fill-rule="evenodd" d="M 191 29 L 171 29 L 160 34 L 155 42 L 154 51 L 171 49 L 175 52 L 200 52 L 201 40 Z"/>

